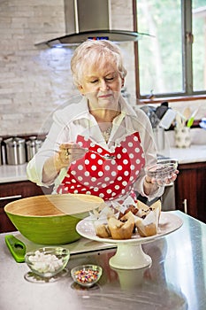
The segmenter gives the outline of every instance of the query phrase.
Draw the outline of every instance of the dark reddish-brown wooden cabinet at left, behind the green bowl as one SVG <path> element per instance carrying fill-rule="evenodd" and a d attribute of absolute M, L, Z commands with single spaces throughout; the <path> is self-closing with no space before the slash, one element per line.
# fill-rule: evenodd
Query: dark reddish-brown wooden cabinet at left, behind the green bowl
<path fill-rule="evenodd" d="M 0 183 L 0 232 L 16 230 L 4 213 L 5 205 L 20 198 L 50 194 L 51 191 L 51 188 L 43 188 L 42 191 L 40 186 L 30 181 Z"/>

